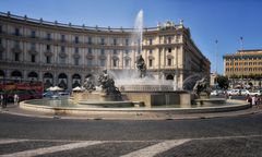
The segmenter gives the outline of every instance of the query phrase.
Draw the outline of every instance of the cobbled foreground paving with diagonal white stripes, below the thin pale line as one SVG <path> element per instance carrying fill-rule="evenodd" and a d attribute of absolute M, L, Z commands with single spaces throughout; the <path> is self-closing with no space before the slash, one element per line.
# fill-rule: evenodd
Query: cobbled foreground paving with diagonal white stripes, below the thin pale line
<path fill-rule="evenodd" d="M 0 140 L 0 143 L 5 141 Z M 179 141 L 48 141 L 27 140 L 0 144 L 1 157 L 259 157 L 262 136 L 224 136 Z M 83 146 L 83 143 L 91 145 Z M 176 144 L 166 149 L 164 143 Z M 72 146 L 72 147 L 71 147 Z M 151 147 L 157 146 L 157 152 Z M 62 149 L 57 149 L 60 147 Z M 153 152 L 153 153 L 152 153 Z"/>

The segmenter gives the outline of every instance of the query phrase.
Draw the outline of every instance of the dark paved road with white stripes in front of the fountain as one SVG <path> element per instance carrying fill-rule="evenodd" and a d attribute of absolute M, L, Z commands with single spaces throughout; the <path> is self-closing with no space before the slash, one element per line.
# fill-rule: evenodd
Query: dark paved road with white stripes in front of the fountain
<path fill-rule="evenodd" d="M 195 120 L 66 120 L 0 113 L 0 156 L 262 156 L 262 114 Z"/>

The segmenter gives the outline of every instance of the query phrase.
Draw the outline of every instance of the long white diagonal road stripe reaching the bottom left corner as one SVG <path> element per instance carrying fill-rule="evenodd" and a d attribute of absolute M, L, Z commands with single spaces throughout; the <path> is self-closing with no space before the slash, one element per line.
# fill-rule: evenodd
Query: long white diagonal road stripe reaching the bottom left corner
<path fill-rule="evenodd" d="M 91 146 L 91 145 L 96 145 L 96 144 L 102 144 L 102 143 L 104 143 L 104 142 L 87 141 L 87 142 L 66 144 L 66 145 L 60 145 L 60 146 L 52 146 L 52 147 L 37 148 L 37 149 L 32 149 L 32 150 L 24 150 L 24 152 L 19 152 L 19 153 L 13 153 L 13 154 L 1 155 L 0 157 L 32 157 L 32 156 L 37 156 L 37 155 L 44 155 L 44 154 L 50 154 L 50 153 L 56 153 L 56 152 L 87 147 L 87 146 Z"/>

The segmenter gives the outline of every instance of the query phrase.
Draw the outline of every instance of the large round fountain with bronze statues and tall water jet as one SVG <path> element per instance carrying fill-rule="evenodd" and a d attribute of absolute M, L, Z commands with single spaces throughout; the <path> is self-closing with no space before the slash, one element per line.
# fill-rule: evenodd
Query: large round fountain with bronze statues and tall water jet
<path fill-rule="evenodd" d="M 136 70 L 120 72 L 104 70 L 97 78 L 98 86 L 95 86 L 94 82 L 87 77 L 83 85 L 85 90 L 73 94 L 72 100 L 27 100 L 21 104 L 21 108 L 76 114 L 115 114 L 116 111 L 124 114 L 159 111 L 165 114 L 183 110 L 187 112 L 214 112 L 250 107 L 248 104 L 237 100 L 225 102 L 225 99 L 223 101 L 209 99 L 205 78 L 198 81 L 194 85 L 195 81 L 200 78 L 200 74 L 187 78 L 183 84 L 186 89 L 189 89 L 190 86 L 192 89 L 194 85 L 193 95 L 196 97 L 192 97 L 188 90 L 174 90 L 172 82 L 155 78 L 146 71 L 142 56 L 142 35 L 143 11 L 140 11 L 132 35 L 132 43 L 136 45 Z M 203 97 L 203 92 L 206 97 Z M 228 107 L 228 104 L 234 104 L 234 106 Z"/>

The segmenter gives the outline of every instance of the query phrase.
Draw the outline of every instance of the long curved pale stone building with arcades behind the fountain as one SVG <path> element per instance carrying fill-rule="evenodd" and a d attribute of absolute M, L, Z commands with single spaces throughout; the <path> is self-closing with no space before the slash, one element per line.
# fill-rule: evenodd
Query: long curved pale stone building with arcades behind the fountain
<path fill-rule="evenodd" d="M 134 70 L 139 55 L 132 28 L 90 27 L 0 13 L 0 77 L 43 81 L 67 89 L 100 70 Z M 210 61 L 182 22 L 144 28 L 142 52 L 147 71 L 159 80 L 210 75 Z"/>

